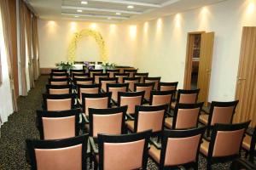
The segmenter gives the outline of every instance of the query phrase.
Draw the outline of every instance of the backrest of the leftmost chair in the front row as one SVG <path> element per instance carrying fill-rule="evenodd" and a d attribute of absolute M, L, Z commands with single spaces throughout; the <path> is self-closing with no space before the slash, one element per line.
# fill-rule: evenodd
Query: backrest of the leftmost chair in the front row
<path fill-rule="evenodd" d="M 88 134 L 70 139 L 26 139 L 32 169 L 86 169 Z"/>

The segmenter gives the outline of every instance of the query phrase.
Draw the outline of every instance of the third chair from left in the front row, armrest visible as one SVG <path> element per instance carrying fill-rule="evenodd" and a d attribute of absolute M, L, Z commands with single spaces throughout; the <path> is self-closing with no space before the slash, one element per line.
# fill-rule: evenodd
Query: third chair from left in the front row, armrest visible
<path fill-rule="evenodd" d="M 158 169 L 198 169 L 200 144 L 206 128 L 164 130 L 160 144 L 152 143 L 149 157 Z M 183 167 L 183 168 L 181 168 Z"/>

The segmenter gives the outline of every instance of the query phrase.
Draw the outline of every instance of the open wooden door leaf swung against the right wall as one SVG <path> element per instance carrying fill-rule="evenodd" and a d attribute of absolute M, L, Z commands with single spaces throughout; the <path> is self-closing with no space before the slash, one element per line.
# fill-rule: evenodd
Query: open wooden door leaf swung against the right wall
<path fill-rule="evenodd" d="M 201 34 L 201 50 L 198 71 L 197 88 L 200 88 L 198 101 L 208 104 L 208 94 L 212 71 L 212 52 L 214 43 L 214 32 Z"/>

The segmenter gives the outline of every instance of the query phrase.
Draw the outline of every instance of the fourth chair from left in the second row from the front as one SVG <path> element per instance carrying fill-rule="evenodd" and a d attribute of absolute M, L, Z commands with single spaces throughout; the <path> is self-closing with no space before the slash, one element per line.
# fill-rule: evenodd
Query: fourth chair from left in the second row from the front
<path fill-rule="evenodd" d="M 198 126 L 198 119 L 203 103 L 177 104 L 173 117 L 166 117 L 165 126 L 170 129 L 188 129 Z"/>

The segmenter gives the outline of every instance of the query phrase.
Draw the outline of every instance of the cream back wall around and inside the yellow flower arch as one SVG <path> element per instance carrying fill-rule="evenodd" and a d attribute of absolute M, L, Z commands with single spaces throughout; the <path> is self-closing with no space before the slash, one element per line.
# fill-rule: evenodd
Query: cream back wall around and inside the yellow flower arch
<path fill-rule="evenodd" d="M 75 32 L 96 26 L 106 42 L 108 61 L 119 65 L 133 65 L 134 37 L 131 27 L 69 20 L 39 20 L 39 56 L 40 67 L 53 67 L 55 63 L 67 61 L 68 46 Z M 136 32 L 135 32 L 136 33 Z M 99 50 L 92 37 L 84 37 L 78 44 L 77 59 L 98 61 Z"/>

